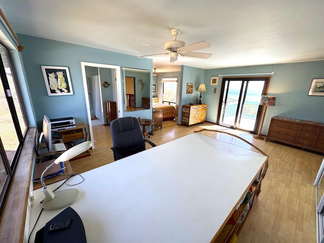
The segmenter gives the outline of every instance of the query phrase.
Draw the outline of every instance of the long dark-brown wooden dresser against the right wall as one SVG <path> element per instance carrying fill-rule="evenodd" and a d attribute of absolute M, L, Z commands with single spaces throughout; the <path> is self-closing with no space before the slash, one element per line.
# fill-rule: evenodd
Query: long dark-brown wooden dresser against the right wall
<path fill-rule="evenodd" d="M 266 141 L 268 140 L 324 152 L 324 124 L 273 116 L 266 138 Z"/>

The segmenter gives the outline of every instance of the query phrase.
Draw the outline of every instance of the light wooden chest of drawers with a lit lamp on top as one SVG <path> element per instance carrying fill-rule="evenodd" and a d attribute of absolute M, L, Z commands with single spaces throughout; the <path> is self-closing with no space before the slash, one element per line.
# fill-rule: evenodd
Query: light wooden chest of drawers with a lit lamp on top
<path fill-rule="evenodd" d="M 207 105 L 183 105 L 182 106 L 182 125 L 192 125 L 203 123 L 206 120 Z"/>

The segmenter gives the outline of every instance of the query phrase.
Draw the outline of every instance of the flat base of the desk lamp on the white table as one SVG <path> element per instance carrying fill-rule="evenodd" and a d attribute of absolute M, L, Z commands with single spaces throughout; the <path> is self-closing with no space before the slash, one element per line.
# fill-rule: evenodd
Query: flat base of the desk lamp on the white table
<path fill-rule="evenodd" d="M 74 203 L 79 195 L 79 190 L 75 188 L 65 189 L 54 192 L 55 197 L 52 200 L 43 201 L 43 209 L 54 210 L 64 208 Z"/>

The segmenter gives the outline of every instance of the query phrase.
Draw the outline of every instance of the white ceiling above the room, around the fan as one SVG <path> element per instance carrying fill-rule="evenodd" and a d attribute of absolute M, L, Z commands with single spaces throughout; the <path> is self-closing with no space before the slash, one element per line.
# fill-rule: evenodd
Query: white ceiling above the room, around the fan
<path fill-rule="evenodd" d="M 186 45 L 206 41 L 209 59 L 180 65 L 221 68 L 324 60 L 323 0 L 0 0 L 17 33 L 142 56 L 163 53 L 170 30 Z M 24 45 L 22 43 L 22 45 Z M 157 72 L 170 57 L 154 56 Z"/>

